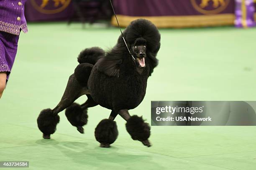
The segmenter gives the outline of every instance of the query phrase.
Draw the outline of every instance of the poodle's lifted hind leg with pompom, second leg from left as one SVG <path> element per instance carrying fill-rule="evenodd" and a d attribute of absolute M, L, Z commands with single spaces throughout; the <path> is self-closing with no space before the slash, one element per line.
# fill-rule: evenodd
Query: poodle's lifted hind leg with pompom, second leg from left
<path fill-rule="evenodd" d="M 88 99 L 87 101 L 79 105 L 77 103 L 73 103 L 69 107 L 67 107 L 65 115 L 71 125 L 77 127 L 77 130 L 80 133 L 84 133 L 84 128 L 83 126 L 87 124 L 87 108 L 88 107 L 94 107 L 98 105 L 91 97 L 91 95 L 87 95 Z"/>

